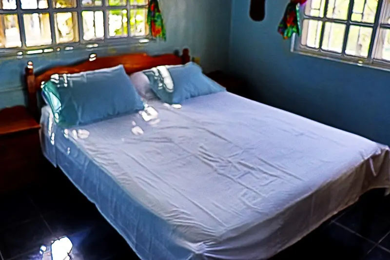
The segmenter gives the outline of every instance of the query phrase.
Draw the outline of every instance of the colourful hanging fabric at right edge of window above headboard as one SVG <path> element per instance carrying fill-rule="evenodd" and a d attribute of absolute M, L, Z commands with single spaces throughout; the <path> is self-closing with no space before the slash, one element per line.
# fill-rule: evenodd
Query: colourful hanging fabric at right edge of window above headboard
<path fill-rule="evenodd" d="M 150 0 L 149 2 L 148 24 L 153 39 L 167 40 L 158 0 Z"/>

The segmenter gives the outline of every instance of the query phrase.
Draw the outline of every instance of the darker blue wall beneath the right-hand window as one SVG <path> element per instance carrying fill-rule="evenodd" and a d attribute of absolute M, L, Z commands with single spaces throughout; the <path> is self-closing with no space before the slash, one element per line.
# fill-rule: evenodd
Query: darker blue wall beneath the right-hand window
<path fill-rule="evenodd" d="M 255 99 L 390 144 L 390 72 L 290 52 L 276 32 L 288 0 L 268 0 L 266 18 L 249 17 L 249 0 L 233 0 L 230 70 Z"/>

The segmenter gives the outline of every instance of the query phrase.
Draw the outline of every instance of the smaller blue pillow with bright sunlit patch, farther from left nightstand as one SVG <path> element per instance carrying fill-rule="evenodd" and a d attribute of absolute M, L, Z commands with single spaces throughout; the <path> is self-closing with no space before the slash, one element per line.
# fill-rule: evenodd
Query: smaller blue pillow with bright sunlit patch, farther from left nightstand
<path fill-rule="evenodd" d="M 184 66 L 159 66 L 144 74 L 156 96 L 168 104 L 181 104 L 184 100 L 226 91 L 193 62 Z"/>

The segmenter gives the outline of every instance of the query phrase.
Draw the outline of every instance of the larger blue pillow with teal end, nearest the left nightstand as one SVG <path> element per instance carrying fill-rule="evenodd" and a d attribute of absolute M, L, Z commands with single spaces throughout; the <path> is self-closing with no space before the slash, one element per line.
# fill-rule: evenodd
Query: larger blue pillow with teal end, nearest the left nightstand
<path fill-rule="evenodd" d="M 123 65 L 55 74 L 42 86 L 56 122 L 62 127 L 90 123 L 144 108 Z"/>

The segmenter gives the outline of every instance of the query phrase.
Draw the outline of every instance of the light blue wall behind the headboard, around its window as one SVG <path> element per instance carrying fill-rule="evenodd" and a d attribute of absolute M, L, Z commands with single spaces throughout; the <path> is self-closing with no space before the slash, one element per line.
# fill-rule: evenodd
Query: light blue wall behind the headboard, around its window
<path fill-rule="evenodd" d="M 167 42 L 94 52 L 98 56 L 129 52 L 159 54 L 189 47 L 193 56 L 201 58 L 205 71 L 227 69 L 231 0 L 160 0 L 160 4 L 167 27 Z M 39 69 L 86 59 L 88 54 L 87 51 L 74 51 L 20 60 L 0 58 L 0 108 L 24 104 L 23 68 L 28 60 Z"/>

